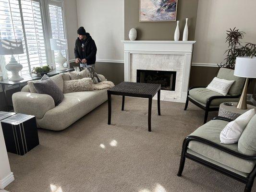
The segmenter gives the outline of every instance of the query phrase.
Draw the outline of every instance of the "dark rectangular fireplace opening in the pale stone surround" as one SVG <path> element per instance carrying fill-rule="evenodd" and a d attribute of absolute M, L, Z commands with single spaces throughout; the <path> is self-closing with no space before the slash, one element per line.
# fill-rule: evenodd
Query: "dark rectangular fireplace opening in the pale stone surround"
<path fill-rule="evenodd" d="M 137 83 L 161 84 L 162 90 L 175 91 L 176 72 L 137 70 Z"/>

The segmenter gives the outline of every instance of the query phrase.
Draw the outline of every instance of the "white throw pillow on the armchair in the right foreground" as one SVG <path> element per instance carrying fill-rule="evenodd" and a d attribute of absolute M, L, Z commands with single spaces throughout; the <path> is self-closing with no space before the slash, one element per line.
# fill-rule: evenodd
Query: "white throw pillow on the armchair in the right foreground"
<path fill-rule="evenodd" d="M 248 122 L 255 115 L 255 109 L 250 109 L 240 115 L 235 120 L 229 122 L 220 132 L 219 139 L 221 144 L 235 144 L 238 142 Z"/>

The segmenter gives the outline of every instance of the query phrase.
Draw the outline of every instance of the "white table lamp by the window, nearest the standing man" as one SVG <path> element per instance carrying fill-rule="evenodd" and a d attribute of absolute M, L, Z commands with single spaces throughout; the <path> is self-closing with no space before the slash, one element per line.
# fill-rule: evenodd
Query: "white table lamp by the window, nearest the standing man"
<path fill-rule="evenodd" d="M 63 66 L 67 59 L 61 54 L 61 50 L 68 49 L 67 39 L 50 39 L 50 47 L 51 50 L 59 50 L 58 55 L 55 57 L 55 62 L 59 65 L 56 69 L 60 71 L 67 70 L 67 68 Z"/>

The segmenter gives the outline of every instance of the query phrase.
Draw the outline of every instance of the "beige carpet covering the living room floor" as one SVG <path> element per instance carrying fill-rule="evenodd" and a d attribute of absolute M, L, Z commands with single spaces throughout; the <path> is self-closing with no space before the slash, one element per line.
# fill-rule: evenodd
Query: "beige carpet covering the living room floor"
<path fill-rule="evenodd" d="M 185 136 L 202 125 L 204 111 L 189 104 L 153 101 L 147 132 L 147 100 L 113 96 L 61 132 L 38 130 L 40 145 L 25 156 L 8 154 L 15 180 L 10 192 L 243 192 L 244 184 L 186 160 L 177 177 Z M 211 112 L 210 117 L 217 112 Z M 254 191 L 254 190 L 253 190 Z M 256 191 L 256 190 L 255 190 Z"/>

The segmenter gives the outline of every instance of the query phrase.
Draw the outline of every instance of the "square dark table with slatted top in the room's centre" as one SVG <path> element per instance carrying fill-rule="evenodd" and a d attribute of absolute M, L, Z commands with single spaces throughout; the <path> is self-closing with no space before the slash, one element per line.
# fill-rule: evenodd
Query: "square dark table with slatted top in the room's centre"
<path fill-rule="evenodd" d="M 151 132 L 151 108 L 152 98 L 158 93 L 158 115 L 160 113 L 160 90 L 161 84 L 144 84 L 133 82 L 122 82 L 108 90 L 109 119 L 111 123 L 111 95 L 122 96 L 122 110 L 124 109 L 125 96 L 148 98 L 148 131 Z"/>

